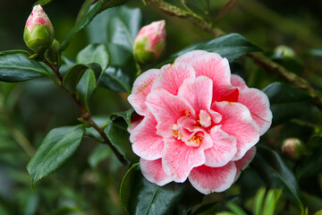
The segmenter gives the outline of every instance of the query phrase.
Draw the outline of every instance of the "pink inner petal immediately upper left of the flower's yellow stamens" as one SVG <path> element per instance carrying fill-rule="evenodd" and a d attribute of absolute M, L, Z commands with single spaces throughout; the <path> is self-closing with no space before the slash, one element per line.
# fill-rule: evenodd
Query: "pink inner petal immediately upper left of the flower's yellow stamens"
<path fill-rule="evenodd" d="M 195 115 L 194 109 L 184 99 L 174 96 L 165 90 L 152 91 L 148 94 L 148 109 L 157 119 L 157 134 L 172 137 L 172 126 L 186 113 Z"/>

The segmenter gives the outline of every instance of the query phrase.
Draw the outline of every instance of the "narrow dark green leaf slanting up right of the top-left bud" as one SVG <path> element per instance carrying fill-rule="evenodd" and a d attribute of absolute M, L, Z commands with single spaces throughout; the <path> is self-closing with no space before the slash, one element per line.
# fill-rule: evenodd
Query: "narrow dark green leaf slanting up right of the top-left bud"
<path fill-rule="evenodd" d="M 70 30 L 66 36 L 64 37 L 62 43 L 61 43 L 61 47 L 60 47 L 60 51 L 63 52 L 64 49 L 66 49 L 66 47 L 68 47 L 68 45 L 70 44 L 72 37 L 78 33 L 80 30 L 82 30 L 83 28 L 85 28 L 89 22 L 91 22 L 94 17 L 97 15 L 97 13 L 99 13 L 99 10 L 103 4 L 104 0 L 99 0 L 97 2 L 97 4 L 94 5 L 94 7 L 89 11 L 89 13 L 87 13 L 79 22 L 77 22 L 74 27 L 72 28 L 72 30 Z"/>

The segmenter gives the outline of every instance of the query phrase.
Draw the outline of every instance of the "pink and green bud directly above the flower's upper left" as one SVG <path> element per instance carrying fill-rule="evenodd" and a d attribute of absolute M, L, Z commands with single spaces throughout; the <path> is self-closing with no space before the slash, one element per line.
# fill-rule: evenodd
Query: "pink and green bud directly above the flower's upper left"
<path fill-rule="evenodd" d="M 152 22 L 140 29 L 134 40 L 134 57 L 140 64 L 156 60 L 165 49 L 165 21 Z"/>

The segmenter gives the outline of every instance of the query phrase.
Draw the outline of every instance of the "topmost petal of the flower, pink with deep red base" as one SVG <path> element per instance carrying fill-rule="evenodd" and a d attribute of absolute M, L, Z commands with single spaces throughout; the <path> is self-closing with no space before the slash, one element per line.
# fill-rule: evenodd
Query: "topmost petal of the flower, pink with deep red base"
<path fill-rule="evenodd" d="M 196 72 L 196 77 L 205 75 L 213 81 L 214 97 L 216 94 L 223 95 L 226 87 L 231 86 L 231 71 L 226 58 L 216 53 L 208 53 L 196 56 L 190 64 Z"/>

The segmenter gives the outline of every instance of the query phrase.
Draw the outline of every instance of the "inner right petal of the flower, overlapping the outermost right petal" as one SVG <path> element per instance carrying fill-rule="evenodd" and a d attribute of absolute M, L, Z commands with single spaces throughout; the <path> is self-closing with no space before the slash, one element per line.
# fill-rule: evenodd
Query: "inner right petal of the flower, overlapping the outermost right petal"
<path fill-rule="evenodd" d="M 242 159 L 259 140 L 259 127 L 250 116 L 250 110 L 234 102 L 214 102 L 212 109 L 223 116 L 221 129 L 237 140 L 237 152 L 233 160 Z"/>

